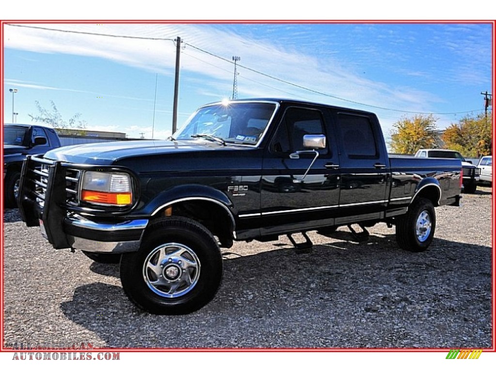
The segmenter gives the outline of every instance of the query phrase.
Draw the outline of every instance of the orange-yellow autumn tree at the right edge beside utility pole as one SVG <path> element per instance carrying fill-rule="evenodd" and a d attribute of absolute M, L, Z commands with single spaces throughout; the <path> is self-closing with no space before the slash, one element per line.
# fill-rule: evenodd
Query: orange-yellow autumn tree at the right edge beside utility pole
<path fill-rule="evenodd" d="M 466 116 L 446 128 L 441 136 L 444 148 L 457 150 L 468 158 L 492 155 L 493 118 L 484 114 Z"/>

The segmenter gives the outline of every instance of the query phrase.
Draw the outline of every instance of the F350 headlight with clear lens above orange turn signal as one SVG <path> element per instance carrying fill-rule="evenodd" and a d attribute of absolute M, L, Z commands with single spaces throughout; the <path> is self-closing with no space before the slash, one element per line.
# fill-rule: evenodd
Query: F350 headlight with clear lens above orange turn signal
<path fill-rule="evenodd" d="M 131 178 L 127 173 L 84 172 L 81 201 L 101 205 L 130 205 Z"/>

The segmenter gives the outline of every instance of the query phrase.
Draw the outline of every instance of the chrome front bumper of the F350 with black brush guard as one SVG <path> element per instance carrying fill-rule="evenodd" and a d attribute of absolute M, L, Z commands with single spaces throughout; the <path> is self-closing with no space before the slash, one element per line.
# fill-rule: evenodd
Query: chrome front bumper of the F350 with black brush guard
<path fill-rule="evenodd" d="M 62 162 L 28 156 L 23 163 L 18 196 L 19 212 L 26 225 L 41 225 L 43 236 L 56 249 L 98 253 L 137 250 L 148 220 L 104 212 L 91 215 L 87 208 L 69 203 L 68 195 L 74 192 L 68 186 L 78 181 L 73 170 L 70 172 L 69 177 L 67 165 Z"/>

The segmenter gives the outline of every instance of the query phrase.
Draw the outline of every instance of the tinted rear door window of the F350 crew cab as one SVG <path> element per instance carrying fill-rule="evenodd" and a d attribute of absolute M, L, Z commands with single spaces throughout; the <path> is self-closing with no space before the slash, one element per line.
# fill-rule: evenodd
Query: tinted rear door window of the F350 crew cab
<path fill-rule="evenodd" d="M 376 159 L 378 152 L 372 123 L 366 116 L 338 114 L 342 143 L 350 159 Z"/>

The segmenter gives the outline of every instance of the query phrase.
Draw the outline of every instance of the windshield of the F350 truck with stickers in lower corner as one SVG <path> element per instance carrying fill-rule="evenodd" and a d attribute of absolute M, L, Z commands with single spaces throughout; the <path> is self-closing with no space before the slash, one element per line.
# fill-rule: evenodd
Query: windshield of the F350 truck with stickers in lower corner
<path fill-rule="evenodd" d="M 276 109 L 275 103 L 229 103 L 199 109 L 179 129 L 177 140 L 195 139 L 206 134 L 226 143 L 255 145 Z"/>

